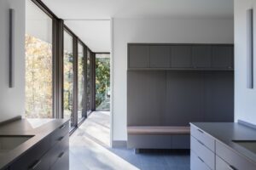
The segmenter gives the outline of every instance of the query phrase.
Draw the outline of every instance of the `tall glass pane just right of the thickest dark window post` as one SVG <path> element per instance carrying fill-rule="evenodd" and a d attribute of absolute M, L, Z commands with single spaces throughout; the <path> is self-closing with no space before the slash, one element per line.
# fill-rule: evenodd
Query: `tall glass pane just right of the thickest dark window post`
<path fill-rule="evenodd" d="M 73 37 L 64 31 L 63 55 L 63 110 L 64 118 L 73 126 Z"/>

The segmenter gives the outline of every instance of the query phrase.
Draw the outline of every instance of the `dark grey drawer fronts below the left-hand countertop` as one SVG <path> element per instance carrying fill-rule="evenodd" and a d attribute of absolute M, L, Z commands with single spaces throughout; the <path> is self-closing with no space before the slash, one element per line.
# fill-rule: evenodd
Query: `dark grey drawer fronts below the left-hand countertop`
<path fill-rule="evenodd" d="M 55 129 L 32 149 L 27 150 L 17 161 L 10 165 L 9 170 L 68 170 L 69 133 L 68 122 Z M 54 166 L 55 162 L 62 166 Z M 53 166 L 55 168 L 53 168 Z"/>

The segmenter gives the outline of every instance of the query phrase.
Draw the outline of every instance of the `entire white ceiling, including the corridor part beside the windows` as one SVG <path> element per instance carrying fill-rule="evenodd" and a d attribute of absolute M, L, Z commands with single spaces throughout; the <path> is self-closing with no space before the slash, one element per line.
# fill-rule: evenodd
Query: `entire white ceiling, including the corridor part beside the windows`
<path fill-rule="evenodd" d="M 234 0 L 42 1 L 58 17 L 68 20 L 67 26 L 70 26 L 95 52 L 110 51 L 110 25 L 107 26 L 106 22 L 102 22 L 102 20 L 111 18 L 233 18 L 234 14 Z M 97 22 L 100 23 L 92 22 L 92 25 L 89 26 L 88 22 L 83 20 L 98 20 Z M 92 28 L 94 25 L 102 26 Z M 103 33 L 108 35 L 103 35 Z M 92 37 L 92 35 L 96 37 Z M 108 37 L 109 39 L 107 39 Z"/>

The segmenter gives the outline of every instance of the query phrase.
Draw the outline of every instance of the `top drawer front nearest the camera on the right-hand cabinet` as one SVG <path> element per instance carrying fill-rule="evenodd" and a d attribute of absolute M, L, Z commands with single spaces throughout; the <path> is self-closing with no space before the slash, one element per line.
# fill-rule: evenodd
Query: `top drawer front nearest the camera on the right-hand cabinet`
<path fill-rule="evenodd" d="M 231 167 L 236 170 L 255 170 L 256 164 L 247 158 L 236 154 L 235 151 L 230 150 L 224 144 L 216 142 L 216 155 L 226 161 Z"/>

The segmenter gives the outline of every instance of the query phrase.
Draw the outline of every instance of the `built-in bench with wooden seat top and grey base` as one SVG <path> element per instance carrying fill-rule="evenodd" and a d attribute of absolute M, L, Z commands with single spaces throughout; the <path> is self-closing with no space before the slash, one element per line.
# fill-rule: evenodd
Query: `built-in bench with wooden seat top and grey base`
<path fill-rule="evenodd" d="M 189 149 L 190 127 L 129 126 L 127 147 L 135 149 Z"/>

